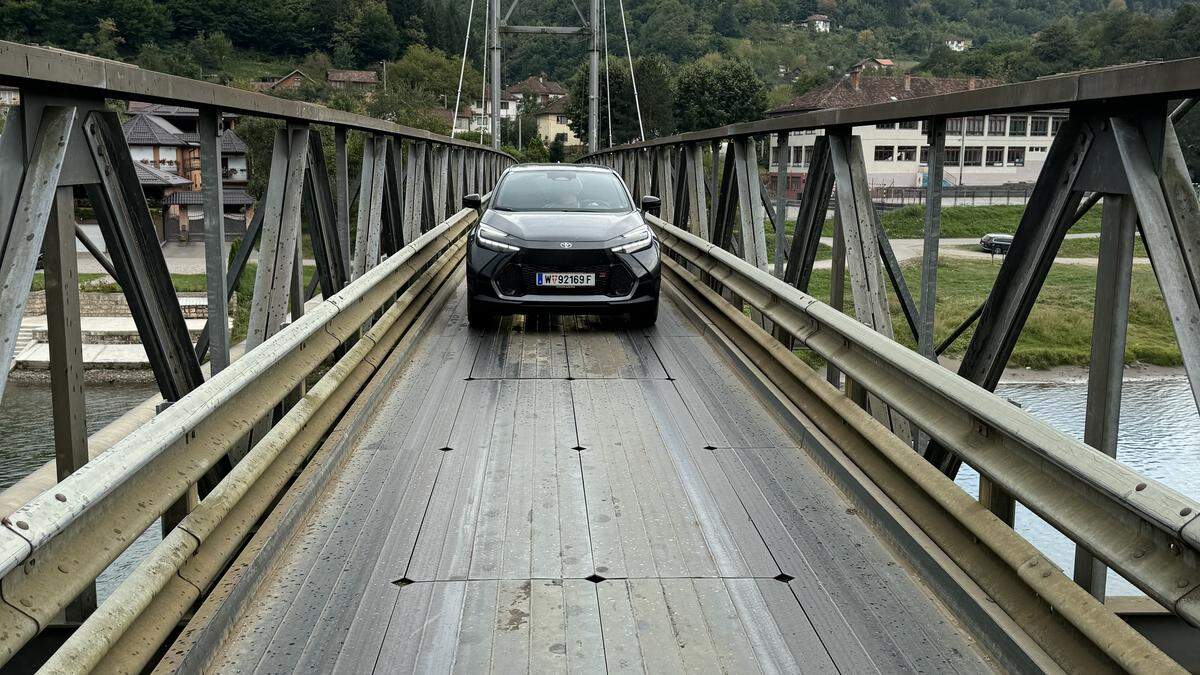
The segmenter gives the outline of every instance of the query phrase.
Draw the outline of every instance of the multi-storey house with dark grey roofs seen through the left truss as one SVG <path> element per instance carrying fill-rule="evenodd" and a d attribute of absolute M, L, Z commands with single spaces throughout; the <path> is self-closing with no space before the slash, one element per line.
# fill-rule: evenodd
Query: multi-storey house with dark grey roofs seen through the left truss
<path fill-rule="evenodd" d="M 200 197 L 200 143 L 196 108 L 131 102 L 132 115 L 121 129 L 146 197 L 162 208 L 161 240 L 187 241 L 204 233 Z M 246 232 L 254 199 L 246 192 L 250 172 L 246 143 L 227 113 L 221 132 L 222 199 L 226 238 Z"/>

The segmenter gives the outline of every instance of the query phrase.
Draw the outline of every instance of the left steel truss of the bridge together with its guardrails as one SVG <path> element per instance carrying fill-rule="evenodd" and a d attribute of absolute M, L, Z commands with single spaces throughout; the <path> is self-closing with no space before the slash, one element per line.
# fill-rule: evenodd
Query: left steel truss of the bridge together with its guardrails
<path fill-rule="evenodd" d="M 460 235 L 474 217 L 456 213 L 458 204 L 466 193 L 487 192 L 511 159 L 320 106 L 12 43 L 0 43 L 0 79 L 22 95 L 0 136 L 0 371 L 10 370 L 44 250 L 56 472 L 67 480 L 43 495 L 55 515 L 31 502 L 34 512 L 11 514 L 0 531 L 10 598 L 0 605 L 7 635 L 0 658 L 7 659 L 62 611 L 74 622 L 90 615 L 92 580 L 160 516 L 172 560 L 191 556 L 161 579 L 164 592 L 152 608 L 174 616 L 156 619 L 155 629 L 178 622 L 305 459 L 296 436 L 311 447 L 329 431 L 380 354 L 455 274 Z M 258 250 L 247 356 L 232 365 L 223 322 L 209 321 L 191 342 L 119 114 L 108 103 L 114 98 L 199 110 L 210 317 L 228 316 L 236 280 Z M 217 179 L 223 113 L 283 123 L 265 195 L 228 269 Z M 332 169 L 323 130 L 332 132 Z M 364 144 L 353 220 L 350 133 Z M 95 209 L 108 257 L 77 231 L 77 191 Z M 312 241 L 316 288 L 302 287 L 302 233 Z M 77 235 L 120 285 L 169 406 L 108 453 L 92 447 L 90 464 Z M 305 315 L 317 289 L 325 301 Z M 307 389 L 308 375 L 330 356 L 336 365 Z M 289 454 L 281 459 L 284 444 Z M 136 617 L 132 607 L 120 614 Z M 149 658 L 154 651 L 130 653 Z"/>

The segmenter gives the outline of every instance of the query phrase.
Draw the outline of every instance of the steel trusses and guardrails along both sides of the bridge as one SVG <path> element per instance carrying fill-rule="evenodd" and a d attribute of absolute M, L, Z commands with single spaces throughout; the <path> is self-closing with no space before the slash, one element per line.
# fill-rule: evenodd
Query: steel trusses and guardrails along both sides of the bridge
<path fill-rule="evenodd" d="M 282 513 L 271 508 L 317 447 L 350 432 L 343 411 L 389 353 L 416 339 L 434 313 L 427 310 L 458 286 L 464 235 L 476 214 L 455 205 L 463 193 L 488 191 L 511 160 L 319 106 L 10 43 L 0 43 L 0 82 L 19 86 L 23 100 L 0 137 L 0 362 L 7 369 L 34 261 L 44 250 L 60 479 L 42 485 L 0 527 L 0 659 L 65 617 L 78 628 L 49 670 L 137 671 L 161 653 L 247 542 L 262 545 L 250 537 L 264 516 L 300 518 L 305 503 L 288 502 Z M 696 307 L 733 363 L 761 374 L 763 396 L 779 401 L 851 498 L 887 504 L 869 516 L 889 544 L 912 549 L 907 558 L 949 607 L 967 608 L 961 620 L 983 643 L 1001 653 L 1015 646 L 1043 655 L 1002 662 L 1168 671 L 1177 665 L 1097 598 L 1100 566 L 1109 566 L 1200 625 L 1200 503 L 1110 456 L 1135 228 L 1153 258 L 1193 389 L 1200 386 L 1200 209 L 1166 107 L 1196 91 L 1195 61 L 1157 64 L 763 120 L 589 160 L 617 168 L 637 196 L 668 197 L 662 219 L 652 219 L 666 252 L 667 288 Z M 200 109 L 208 120 L 200 127 L 202 165 L 210 172 L 220 166 L 214 135 L 221 113 L 286 123 L 275 136 L 263 203 L 227 276 L 221 249 L 211 246 L 214 307 L 230 292 L 224 279 L 240 275 L 256 241 L 259 250 L 247 351 L 228 365 L 216 327 L 202 345 L 187 340 L 109 98 Z M 937 190 L 929 199 L 931 245 L 918 306 L 878 226 L 851 129 L 930 120 L 936 174 L 944 119 L 1048 108 L 1069 108 L 1070 119 L 979 312 L 959 377 L 930 360 Z M 319 127 L 334 131 L 332 177 Z M 796 235 L 787 238 L 784 205 L 767 193 L 757 153 L 762 136 L 786 143 L 797 130 L 826 133 Z M 354 227 L 349 132 L 361 133 L 365 145 Z M 204 184 L 208 213 L 217 214 L 217 186 Z M 940 184 L 936 175 L 930 180 Z M 94 444 L 90 461 L 73 269 L 76 186 L 96 208 L 114 279 L 134 307 L 169 402 L 107 448 Z M 805 291 L 834 187 L 835 283 L 826 304 Z M 1085 444 L 989 389 L 1087 193 L 1103 196 L 1104 232 Z M 774 261 L 767 257 L 766 220 L 780 253 Z M 305 223 L 323 297 L 307 311 L 304 301 L 314 288 L 302 288 L 296 262 Z M 217 231 L 206 231 L 214 243 Z M 858 321 L 840 311 L 847 268 Z M 887 283 L 901 298 L 904 329 L 916 334 L 922 353 L 890 340 Z M 826 374 L 805 365 L 794 348 L 823 358 Z M 211 354 L 210 376 L 200 365 L 204 353 Z M 964 461 L 986 479 L 980 501 L 952 482 Z M 336 465 L 307 464 L 307 471 L 319 482 Z M 1074 580 L 1013 531 L 1016 501 L 1079 545 Z M 95 578 L 160 518 L 162 544 L 95 608 Z M 914 526 L 889 530 L 901 521 Z M 1010 634 L 1001 644 L 1006 638 L 994 627 L 1014 623 L 1025 638 Z"/>

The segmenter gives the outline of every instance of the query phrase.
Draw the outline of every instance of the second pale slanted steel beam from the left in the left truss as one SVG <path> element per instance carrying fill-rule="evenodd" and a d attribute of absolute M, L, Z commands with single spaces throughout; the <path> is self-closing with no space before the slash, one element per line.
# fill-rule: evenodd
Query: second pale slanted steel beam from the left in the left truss
<path fill-rule="evenodd" d="M 287 130 L 278 131 L 271 160 L 271 183 L 266 186 L 263 207 L 263 240 L 246 330 L 247 351 L 278 333 L 289 309 L 295 285 L 307 163 L 308 127 L 289 125 Z"/>

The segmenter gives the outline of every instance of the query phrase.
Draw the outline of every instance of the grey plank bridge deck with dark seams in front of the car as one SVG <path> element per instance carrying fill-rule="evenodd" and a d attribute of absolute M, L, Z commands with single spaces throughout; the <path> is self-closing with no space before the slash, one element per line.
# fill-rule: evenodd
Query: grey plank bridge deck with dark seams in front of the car
<path fill-rule="evenodd" d="M 994 668 L 671 303 L 481 335 L 461 293 L 212 670 Z"/>

